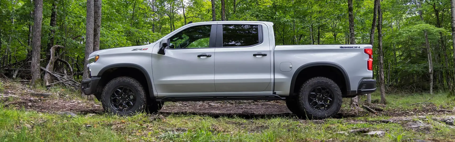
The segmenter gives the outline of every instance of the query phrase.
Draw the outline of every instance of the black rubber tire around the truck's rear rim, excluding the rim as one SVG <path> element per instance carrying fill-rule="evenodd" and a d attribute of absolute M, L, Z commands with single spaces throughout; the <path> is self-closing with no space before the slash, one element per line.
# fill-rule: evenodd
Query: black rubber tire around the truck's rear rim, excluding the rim
<path fill-rule="evenodd" d="M 318 111 L 310 105 L 309 95 L 313 88 L 318 86 L 324 86 L 333 94 L 333 100 L 331 106 L 324 111 Z M 327 117 L 334 117 L 342 104 L 343 97 L 339 86 L 329 78 L 326 77 L 314 77 L 305 81 L 300 87 L 298 92 L 298 110 L 300 111 L 300 117 L 306 117 L 308 119 L 325 119 Z"/>

